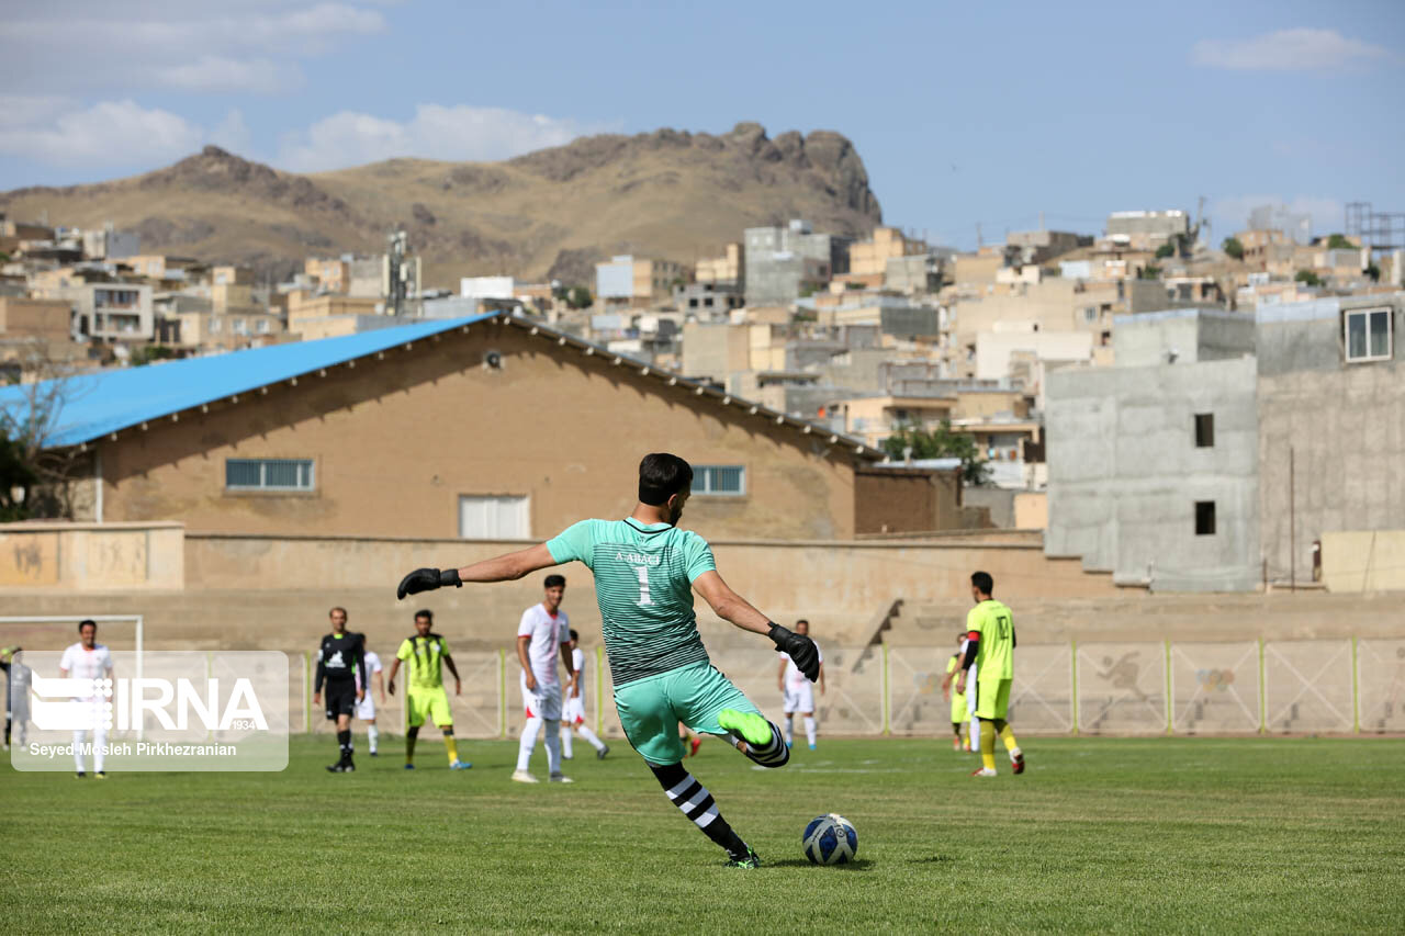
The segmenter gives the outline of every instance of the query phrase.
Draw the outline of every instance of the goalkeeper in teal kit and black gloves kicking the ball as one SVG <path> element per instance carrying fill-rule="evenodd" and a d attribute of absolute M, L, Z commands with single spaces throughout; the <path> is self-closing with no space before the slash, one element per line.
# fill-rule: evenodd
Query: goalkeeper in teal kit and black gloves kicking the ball
<path fill-rule="evenodd" d="M 717 573 L 712 550 L 679 530 L 693 489 L 693 468 L 677 455 L 639 462 L 639 503 L 624 520 L 582 520 L 561 535 L 461 569 L 416 569 L 396 592 L 427 592 L 464 582 L 507 582 L 552 565 L 580 561 L 596 576 L 606 654 L 620 724 L 673 805 L 722 846 L 729 867 L 760 866 L 732 831 L 707 788 L 683 769 L 679 724 L 732 742 L 764 767 L 790 759 L 781 729 L 710 662 L 693 613 L 693 590 L 718 617 L 764 634 L 811 680 L 819 675 L 815 644 L 771 623 Z"/>

